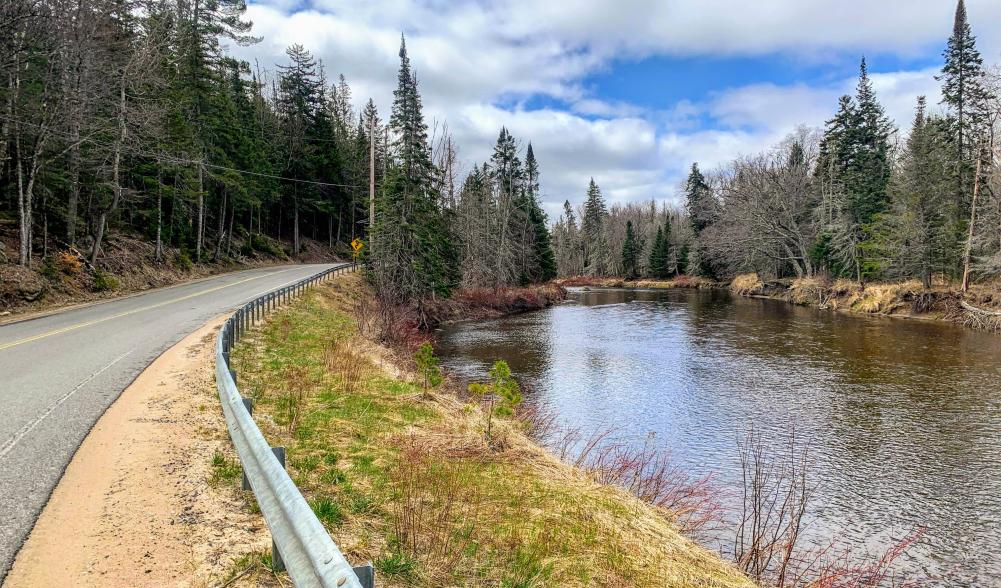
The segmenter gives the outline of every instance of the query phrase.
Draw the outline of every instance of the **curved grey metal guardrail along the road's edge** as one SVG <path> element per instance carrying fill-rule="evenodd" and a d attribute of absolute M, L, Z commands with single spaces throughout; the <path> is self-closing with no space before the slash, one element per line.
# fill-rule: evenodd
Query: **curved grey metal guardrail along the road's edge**
<path fill-rule="evenodd" d="M 277 569 L 284 567 L 299 588 L 369 588 L 371 567 L 355 569 L 347 563 L 285 472 L 284 451 L 276 453 L 268 445 L 253 421 L 250 402 L 236 388 L 229 352 L 265 313 L 290 302 L 310 285 L 354 267 L 354 263 L 330 267 L 250 301 L 226 320 L 215 343 L 215 382 L 229 437 L 243 464 L 244 480 L 249 482 L 271 531 L 272 561 Z"/>

